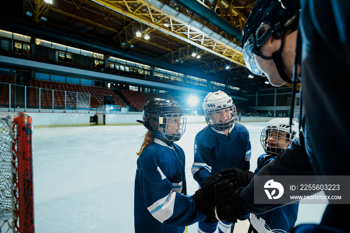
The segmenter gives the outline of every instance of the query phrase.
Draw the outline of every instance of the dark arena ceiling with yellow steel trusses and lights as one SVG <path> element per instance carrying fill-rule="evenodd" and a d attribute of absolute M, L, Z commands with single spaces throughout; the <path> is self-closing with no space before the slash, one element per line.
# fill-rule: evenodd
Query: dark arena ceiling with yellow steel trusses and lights
<path fill-rule="evenodd" d="M 28 28 L 47 30 L 35 36 L 83 38 L 96 47 L 115 48 L 125 59 L 149 65 L 158 62 L 164 69 L 242 90 L 257 90 L 272 86 L 265 84 L 265 77 L 249 77 L 240 47 L 240 32 L 254 3 L 255 0 L 13 0 L 6 3 L 4 13 L 16 19 L 11 20 L 11 28 L 26 28 L 33 34 L 36 30 Z"/>

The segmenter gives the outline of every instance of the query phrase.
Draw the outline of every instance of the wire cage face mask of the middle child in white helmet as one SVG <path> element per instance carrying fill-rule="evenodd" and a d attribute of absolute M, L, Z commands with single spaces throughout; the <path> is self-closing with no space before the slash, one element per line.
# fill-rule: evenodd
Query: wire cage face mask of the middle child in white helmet
<path fill-rule="evenodd" d="M 209 126 L 224 131 L 232 127 L 237 117 L 236 107 L 232 103 L 215 110 L 205 110 L 205 118 Z"/>

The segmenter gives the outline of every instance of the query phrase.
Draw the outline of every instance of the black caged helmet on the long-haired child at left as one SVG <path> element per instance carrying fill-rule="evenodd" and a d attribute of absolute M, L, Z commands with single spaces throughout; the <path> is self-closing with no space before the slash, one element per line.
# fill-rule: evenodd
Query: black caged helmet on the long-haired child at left
<path fill-rule="evenodd" d="M 160 129 L 160 139 L 168 141 L 179 140 L 185 131 L 186 117 L 182 107 L 173 100 L 152 98 L 148 100 L 142 109 L 143 125 L 151 132 Z M 168 124 L 168 118 L 178 119 L 178 128 L 172 130 L 172 124 Z"/>

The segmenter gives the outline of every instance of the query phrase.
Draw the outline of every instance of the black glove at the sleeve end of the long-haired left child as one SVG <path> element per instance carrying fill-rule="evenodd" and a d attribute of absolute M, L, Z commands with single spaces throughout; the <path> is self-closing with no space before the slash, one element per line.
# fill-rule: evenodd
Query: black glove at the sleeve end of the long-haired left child
<path fill-rule="evenodd" d="M 228 203 L 238 186 L 228 179 L 221 179 L 220 174 L 209 176 L 203 187 L 193 194 L 193 201 L 205 215 L 213 215 L 214 207 Z"/>

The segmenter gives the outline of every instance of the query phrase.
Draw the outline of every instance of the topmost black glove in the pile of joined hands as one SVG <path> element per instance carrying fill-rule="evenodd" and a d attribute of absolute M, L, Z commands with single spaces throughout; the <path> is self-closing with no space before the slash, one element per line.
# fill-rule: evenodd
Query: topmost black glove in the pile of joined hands
<path fill-rule="evenodd" d="M 232 183 L 235 182 L 239 187 L 245 187 L 254 177 L 253 172 L 235 167 L 223 168 L 218 174 L 222 179 L 228 179 Z"/>

